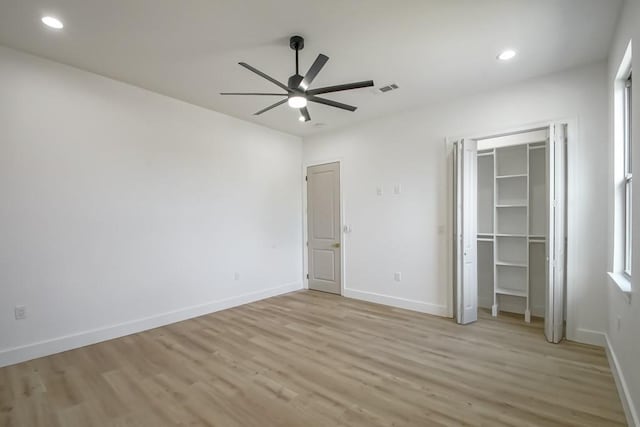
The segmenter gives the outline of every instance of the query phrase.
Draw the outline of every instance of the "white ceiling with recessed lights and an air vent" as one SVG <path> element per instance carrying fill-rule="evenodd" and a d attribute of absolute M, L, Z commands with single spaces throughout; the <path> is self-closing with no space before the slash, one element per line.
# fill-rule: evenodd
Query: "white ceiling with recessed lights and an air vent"
<path fill-rule="evenodd" d="M 0 43 L 241 119 L 308 135 L 606 58 L 619 0 L 0 0 Z M 52 31 L 51 14 L 65 23 Z M 280 90 L 237 65 L 285 82 L 288 38 L 305 37 L 301 73 L 329 62 L 313 87 L 373 79 L 325 97 L 355 113 L 310 104 L 300 123 L 277 101 L 223 91 Z M 504 48 L 519 52 L 501 63 Z M 325 126 L 317 126 L 324 123 Z"/>

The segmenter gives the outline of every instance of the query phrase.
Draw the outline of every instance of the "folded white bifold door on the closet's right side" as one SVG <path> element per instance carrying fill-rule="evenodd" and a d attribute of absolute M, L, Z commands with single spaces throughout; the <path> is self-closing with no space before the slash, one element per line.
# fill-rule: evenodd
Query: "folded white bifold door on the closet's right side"
<path fill-rule="evenodd" d="M 565 124 L 552 125 L 547 143 L 547 233 L 545 336 L 558 343 L 564 337 L 564 268 L 566 209 Z"/>

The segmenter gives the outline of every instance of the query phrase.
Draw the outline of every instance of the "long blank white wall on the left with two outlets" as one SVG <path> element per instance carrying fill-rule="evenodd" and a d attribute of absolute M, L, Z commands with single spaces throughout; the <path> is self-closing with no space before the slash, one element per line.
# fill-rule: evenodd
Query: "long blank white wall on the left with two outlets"
<path fill-rule="evenodd" d="M 301 156 L 0 47 L 0 366 L 300 288 Z"/>

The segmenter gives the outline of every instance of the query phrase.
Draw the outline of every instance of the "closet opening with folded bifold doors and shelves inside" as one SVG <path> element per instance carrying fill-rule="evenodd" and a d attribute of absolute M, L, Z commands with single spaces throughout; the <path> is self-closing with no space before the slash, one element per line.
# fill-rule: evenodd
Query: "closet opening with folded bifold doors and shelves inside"
<path fill-rule="evenodd" d="M 515 313 L 564 337 L 566 136 L 556 123 L 454 142 L 458 323 Z"/>

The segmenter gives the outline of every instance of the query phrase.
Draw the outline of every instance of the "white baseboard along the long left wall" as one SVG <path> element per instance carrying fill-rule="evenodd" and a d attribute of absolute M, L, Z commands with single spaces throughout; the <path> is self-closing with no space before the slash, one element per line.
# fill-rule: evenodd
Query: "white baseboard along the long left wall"
<path fill-rule="evenodd" d="M 302 289 L 299 282 L 0 351 L 0 367 L 84 347 Z"/>

